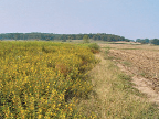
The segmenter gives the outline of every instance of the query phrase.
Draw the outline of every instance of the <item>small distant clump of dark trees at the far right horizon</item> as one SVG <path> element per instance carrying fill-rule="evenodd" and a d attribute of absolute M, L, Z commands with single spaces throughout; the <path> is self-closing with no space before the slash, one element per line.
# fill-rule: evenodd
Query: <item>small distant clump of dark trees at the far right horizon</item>
<path fill-rule="evenodd" d="M 155 44 L 155 45 L 159 45 L 159 39 L 137 39 L 136 42 L 139 42 L 141 44 Z"/>

